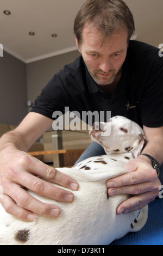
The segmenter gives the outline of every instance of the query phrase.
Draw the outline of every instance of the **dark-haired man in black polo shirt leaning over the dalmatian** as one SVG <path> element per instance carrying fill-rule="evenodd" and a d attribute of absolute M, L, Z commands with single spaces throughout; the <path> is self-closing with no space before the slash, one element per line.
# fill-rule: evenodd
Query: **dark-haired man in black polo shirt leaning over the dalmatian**
<path fill-rule="evenodd" d="M 71 190 L 78 190 L 77 182 L 25 153 L 52 125 L 53 112 L 64 113 L 65 106 L 79 113 L 111 111 L 112 116 L 124 115 L 136 121 L 147 138 L 142 153 L 162 163 L 162 59 L 156 48 L 129 41 L 133 32 L 133 16 L 121 0 L 88 0 L 79 10 L 74 33 L 82 56 L 52 78 L 22 123 L 1 138 L 1 204 L 7 212 L 28 221 L 35 219 L 35 213 L 59 215 L 57 205 L 37 201 L 23 187 L 72 202 L 73 193 L 35 175 Z M 101 154 L 99 147 L 96 153 L 91 151 L 92 155 Z M 147 155 L 138 156 L 125 167 L 130 173 L 106 183 L 109 196 L 134 195 L 118 206 L 117 214 L 141 209 L 159 193 L 160 181 Z"/>

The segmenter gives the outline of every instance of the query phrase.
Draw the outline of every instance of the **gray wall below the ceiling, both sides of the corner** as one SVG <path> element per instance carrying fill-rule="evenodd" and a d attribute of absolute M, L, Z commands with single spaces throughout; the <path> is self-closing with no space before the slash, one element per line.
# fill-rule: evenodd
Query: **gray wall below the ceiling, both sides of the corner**
<path fill-rule="evenodd" d="M 30 110 L 27 100 L 34 102 L 52 76 L 78 56 L 73 51 L 25 64 L 4 51 L 0 58 L 0 123 L 18 125 Z"/>

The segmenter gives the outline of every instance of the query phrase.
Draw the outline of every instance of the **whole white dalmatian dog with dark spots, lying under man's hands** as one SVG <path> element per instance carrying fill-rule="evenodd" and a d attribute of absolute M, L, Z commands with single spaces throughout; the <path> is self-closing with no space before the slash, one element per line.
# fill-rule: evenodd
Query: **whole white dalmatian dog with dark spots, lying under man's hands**
<path fill-rule="evenodd" d="M 103 127 L 109 125 L 110 135 L 104 136 Z M 79 184 L 79 190 L 73 192 L 73 202 L 55 202 L 28 191 L 36 199 L 57 204 L 61 209 L 58 218 L 37 216 L 34 222 L 18 220 L 1 206 L 1 245 L 109 245 L 145 225 L 148 206 L 117 215 L 117 206 L 130 195 L 108 197 L 106 188 L 106 181 L 129 172 L 124 164 L 141 153 L 146 141 L 141 127 L 116 116 L 109 123 L 95 123 L 90 135 L 104 147 L 106 155 L 90 157 L 72 168 L 57 168 Z"/>

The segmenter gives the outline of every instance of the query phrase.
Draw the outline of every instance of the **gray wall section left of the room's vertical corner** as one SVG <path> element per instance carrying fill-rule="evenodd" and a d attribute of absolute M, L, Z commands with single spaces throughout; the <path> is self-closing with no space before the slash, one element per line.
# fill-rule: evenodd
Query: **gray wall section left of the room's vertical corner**
<path fill-rule="evenodd" d="M 3 52 L 0 57 L 0 123 L 18 125 L 27 114 L 26 64 Z"/>

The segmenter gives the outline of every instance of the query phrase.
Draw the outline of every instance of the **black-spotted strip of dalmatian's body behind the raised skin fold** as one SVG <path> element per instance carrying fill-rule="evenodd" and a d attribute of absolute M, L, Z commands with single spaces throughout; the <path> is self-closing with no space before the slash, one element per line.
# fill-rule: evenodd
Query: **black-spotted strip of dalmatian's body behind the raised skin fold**
<path fill-rule="evenodd" d="M 104 168 L 114 168 L 114 167 L 124 167 L 124 164 L 129 160 L 133 159 L 131 153 L 126 154 L 112 154 L 112 155 L 102 155 L 102 156 L 92 156 L 85 159 L 72 168 L 74 169 L 84 169 L 84 170 L 95 170 Z"/>

